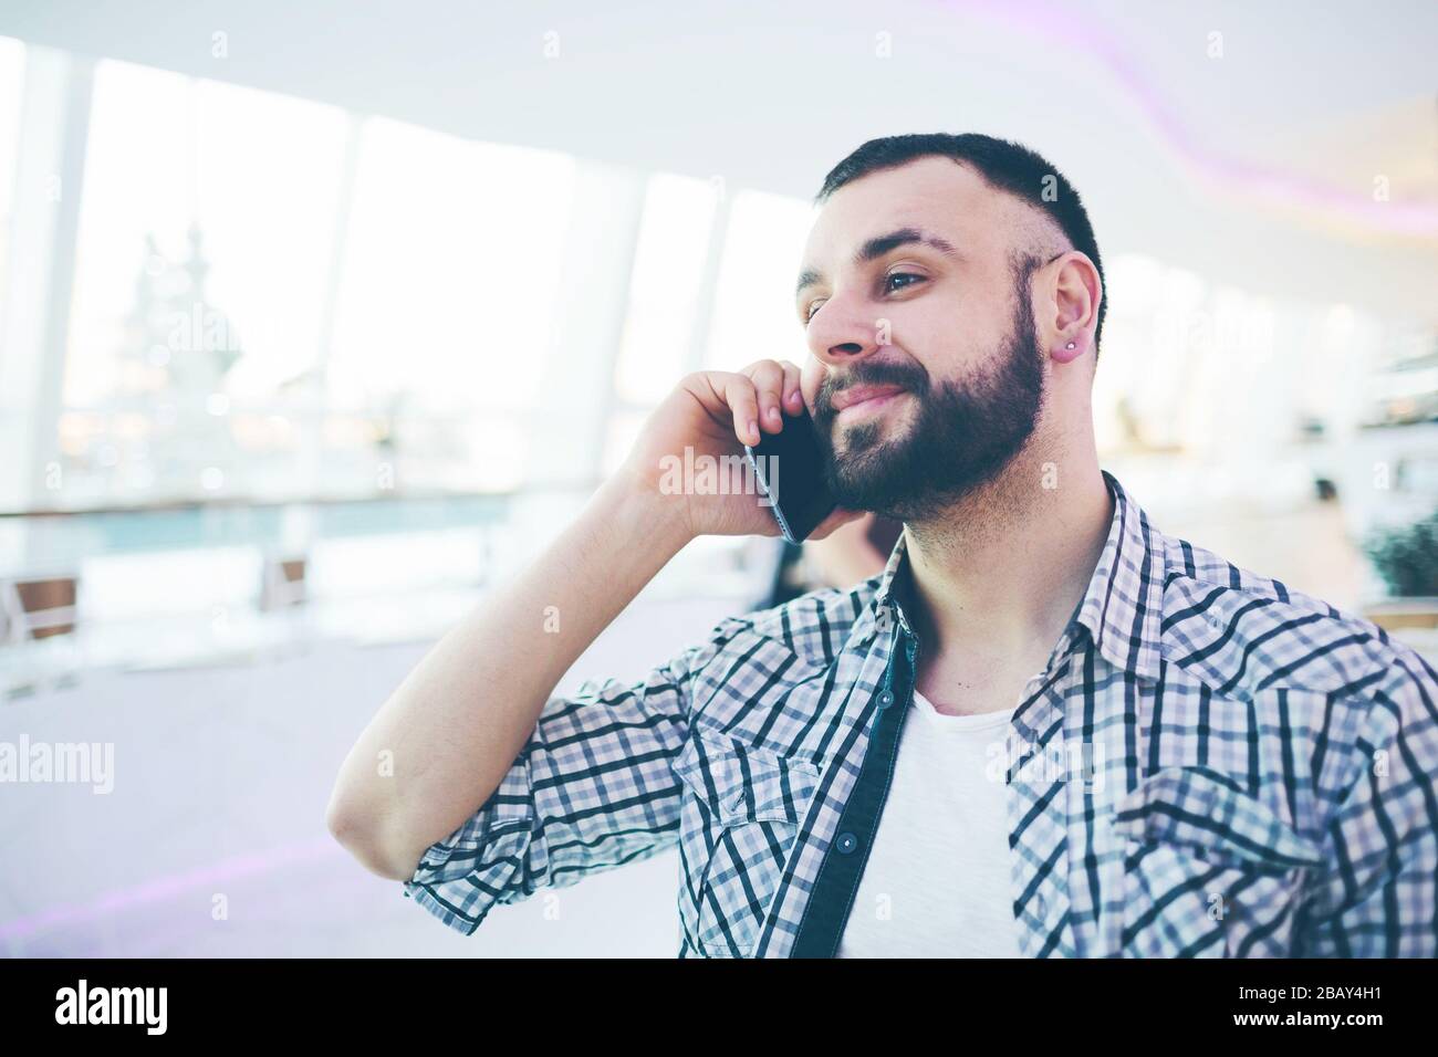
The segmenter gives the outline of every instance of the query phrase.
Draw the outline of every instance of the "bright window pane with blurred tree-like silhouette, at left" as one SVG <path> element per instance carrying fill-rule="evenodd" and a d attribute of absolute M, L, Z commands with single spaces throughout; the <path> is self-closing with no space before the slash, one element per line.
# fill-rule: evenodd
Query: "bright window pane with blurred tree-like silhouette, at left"
<path fill-rule="evenodd" d="M 326 309 L 342 111 L 101 62 L 59 423 L 66 499 L 303 490 L 283 398 Z"/>

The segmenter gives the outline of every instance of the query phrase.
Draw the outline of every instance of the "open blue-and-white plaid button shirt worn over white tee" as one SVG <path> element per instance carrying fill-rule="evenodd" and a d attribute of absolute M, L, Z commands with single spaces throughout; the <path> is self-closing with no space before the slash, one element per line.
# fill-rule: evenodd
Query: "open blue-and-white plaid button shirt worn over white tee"
<path fill-rule="evenodd" d="M 1103 554 L 995 746 L 1022 953 L 1438 955 L 1434 669 L 1163 535 L 1103 476 Z M 833 956 L 873 912 L 854 894 L 909 712 L 912 598 L 900 538 L 856 590 L 549 700 L 404 893 L 470 933 L 677 844 L 680 958 Z"/>

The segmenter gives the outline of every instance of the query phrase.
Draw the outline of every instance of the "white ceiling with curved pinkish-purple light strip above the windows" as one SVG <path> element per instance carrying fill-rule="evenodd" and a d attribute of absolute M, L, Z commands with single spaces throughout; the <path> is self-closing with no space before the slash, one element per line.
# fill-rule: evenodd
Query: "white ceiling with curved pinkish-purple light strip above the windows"
<path fill-rule="evenodd" d="M 876 135 L 1005 135 L 1106 253 L 1438 324 L 1431 0 L 7 0 L 0 33 L 804 197 Z"/>

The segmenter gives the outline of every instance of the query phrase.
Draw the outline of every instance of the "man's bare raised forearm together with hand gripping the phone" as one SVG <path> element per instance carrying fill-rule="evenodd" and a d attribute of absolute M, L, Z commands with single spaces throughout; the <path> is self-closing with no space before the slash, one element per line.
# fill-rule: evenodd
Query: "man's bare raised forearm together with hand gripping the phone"
<path fill-rule="evenodd" d="M 777 361 L 684 378 L 580 519 L 450 631 L 371 720 L 331 795 L 335 838 L 374 873 L 410 879 L 426 848 L 516 774 L 555 685 L 684 544 L 700 534 L 777 535 L 758 496 L 693 495 L 687 482 L 674 488 L 672 469 L 693 465 L 686 447 L 732 456 L 741 441 L 758 443 L 759 429 L 778 431 L 781 403 L 802 406 L 798 385 L 798 368 Z M 815 535 L 854 516 L 838 511 Z M 558 631 L 554 620 L 546 630 L 546 616 L 558 617 Z"/>

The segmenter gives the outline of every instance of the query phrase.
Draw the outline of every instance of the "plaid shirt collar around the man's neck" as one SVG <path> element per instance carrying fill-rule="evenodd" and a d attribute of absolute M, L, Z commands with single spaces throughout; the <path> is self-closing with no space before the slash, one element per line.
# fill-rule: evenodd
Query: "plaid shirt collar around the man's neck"
<path fill-rule="evenodd" d="M 1050 657 L 1050 667 L 1077 646 L 1080 636 L 1087 634 L 1109 663 L 1156 679 L 1163 620 L 1163 535 L 1152 526 L 1148 513 L 1117 477 L 1107 470 L 1100 473 L 1113 499 L 1109 536 L 1089 587 Z M 912 611 L 915 595 L 906 546 L 907 535 L 900 534 L 879 577 L 871 604 L 854 623 L 854 640 L 873 636 L 879 628 L 876 614 L 889 605 L 893 605 L 897 623 L 909 628 L 905 610 Z"/>

